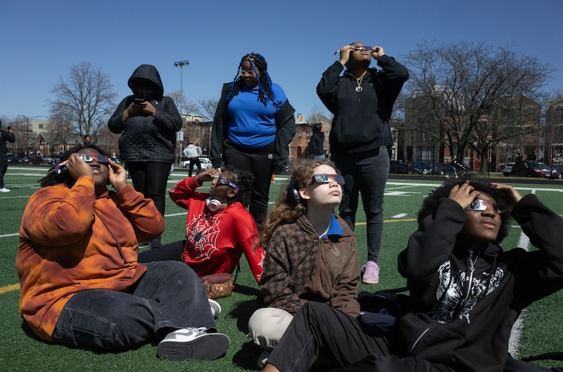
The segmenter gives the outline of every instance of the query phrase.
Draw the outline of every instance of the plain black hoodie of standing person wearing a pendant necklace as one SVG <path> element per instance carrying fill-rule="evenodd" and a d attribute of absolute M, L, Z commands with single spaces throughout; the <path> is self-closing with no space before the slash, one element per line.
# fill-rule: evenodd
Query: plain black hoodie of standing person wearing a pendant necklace
<path fill-rule="evenodd" d="M 380 146 L 392 146 L 389 119 L 400 89 L 409 73 L 389 56 L 381 56 L 362 79 L 362 91 L 355 91 L 356 79 L 337 60 L 323 74 L 317 95 L 334 114 L 329 136 L 331 153 L 358 153 Z"/>

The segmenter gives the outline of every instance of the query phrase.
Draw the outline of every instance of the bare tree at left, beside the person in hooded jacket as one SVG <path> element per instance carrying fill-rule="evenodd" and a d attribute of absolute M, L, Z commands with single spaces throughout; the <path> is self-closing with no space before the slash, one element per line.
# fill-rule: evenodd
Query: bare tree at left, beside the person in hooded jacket
<path fill-rule="evenodd" d="M 55 95 L 49 109 L 55 122 L 53 131 L 61 135 L 63 143 L 68 141 L 63 132 L 74 138 L 89 134 L 95 140 L 115 110 L 116 93 L 109 75 L 89 62 L 71 66 L 68 76 L 61 77 L 51 92 Z"/>

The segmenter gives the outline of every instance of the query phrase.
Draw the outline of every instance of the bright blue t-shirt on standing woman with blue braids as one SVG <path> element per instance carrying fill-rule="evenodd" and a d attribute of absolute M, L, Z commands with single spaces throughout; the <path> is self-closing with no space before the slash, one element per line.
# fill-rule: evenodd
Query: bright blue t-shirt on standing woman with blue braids
<path fill-rule="evenodd" d="M 241 88 L 239 94 L 229 101 L 231 121 L 227 138 L 242 148 L 259 148 L 272 143 L 276 136 L 276 113 L 287 100 L 281 86 L 272 83 L 274 101 L 267 104 L 258 101 L 258 86 Z"/>

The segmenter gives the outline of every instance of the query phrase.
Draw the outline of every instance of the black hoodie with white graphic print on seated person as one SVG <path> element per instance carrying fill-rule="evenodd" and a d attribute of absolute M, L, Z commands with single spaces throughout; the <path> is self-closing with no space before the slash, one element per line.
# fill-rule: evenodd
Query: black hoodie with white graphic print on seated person
<path fill-rule="evenodd" d="M 469 252 L 455 250 L 466 214 L 453 200 L 438 202 L 398 257 L 412 306 L 388 332 L 393 354 L 455 371 L 503 370 L 521 310 L 563 288 L 563 219 L 533 194 L 517 203 L 512 217 L 538 250 L 504 252 L 490 243 L 473 257 L 472 274 Z"/>

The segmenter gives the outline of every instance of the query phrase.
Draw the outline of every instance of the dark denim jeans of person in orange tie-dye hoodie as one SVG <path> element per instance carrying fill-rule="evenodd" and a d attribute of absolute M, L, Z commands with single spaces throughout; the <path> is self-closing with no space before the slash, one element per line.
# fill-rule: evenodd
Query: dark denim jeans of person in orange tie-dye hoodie
<path fill-rule="evenodd" d="M 205 286 L 184 262 L 144 264 L 127 292 L 83 290 L 67 302 L 53 342 L 70 347 L 125 349 L 179 328 L 216 330 Z"/>

